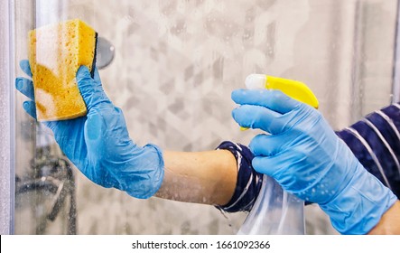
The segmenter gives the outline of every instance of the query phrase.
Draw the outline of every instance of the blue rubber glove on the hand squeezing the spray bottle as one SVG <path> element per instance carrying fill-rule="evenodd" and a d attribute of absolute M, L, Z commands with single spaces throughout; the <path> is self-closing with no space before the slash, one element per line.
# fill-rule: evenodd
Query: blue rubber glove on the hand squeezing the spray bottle
<path fill-rule="evenodd" d="M 239 89 L 232 99 L 241 105 L 232 112 L 240 126 L 268 132 L 249 145 L 255 170 L 320 204 L 340 233 L 366 234 L 395 203 L 316 109 L 279 90 Z"/>

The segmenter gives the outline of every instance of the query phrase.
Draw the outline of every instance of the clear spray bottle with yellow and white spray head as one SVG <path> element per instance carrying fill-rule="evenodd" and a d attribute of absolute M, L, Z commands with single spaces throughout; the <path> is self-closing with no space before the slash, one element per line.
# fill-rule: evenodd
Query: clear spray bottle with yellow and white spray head
<path fill-rule="evenodd" d="M 312 90 L 300 81 L 251 74 L 247 76 L 246 86 L 247 89 L 280 89 L 287 96 L 318 108 L 319 103 Z M 237 234 L 301 235 L 304 233 L 304 201 L 284 192 L 273 178 L 264 175 L 253 209 Z"/>

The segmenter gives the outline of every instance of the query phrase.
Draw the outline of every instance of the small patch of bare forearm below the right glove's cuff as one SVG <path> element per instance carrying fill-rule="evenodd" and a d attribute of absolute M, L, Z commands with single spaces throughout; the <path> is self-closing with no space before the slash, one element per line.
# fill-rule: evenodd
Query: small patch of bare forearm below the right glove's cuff
<path fill-rule="evenodd" d="M 377 226 L 370 230 L 370 235 L 400 235 L 400 201 L 395 204 L 382 216 Z"/>

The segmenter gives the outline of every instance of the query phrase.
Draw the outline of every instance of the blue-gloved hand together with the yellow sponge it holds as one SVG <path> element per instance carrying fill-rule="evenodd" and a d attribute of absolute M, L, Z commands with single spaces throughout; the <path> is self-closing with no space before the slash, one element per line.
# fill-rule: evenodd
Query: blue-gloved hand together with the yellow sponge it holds
<path fill-rule="evenodd" d="M 92 182 L 135 198 L 150 198 L 163 182 L 162 150 L 151 144 L 136 145 L 130 138 L 122 110 L 107 98 L 91 63 L 93 30 L 80 21 L 60 25 L 43 28 L 47 32 L 36 30 L 35 36 L 31 33 L 36 44 L 31 45 L 31 64 L 21 61 L 20 65 L 33 81 L 15 80 L 16 89 L 30 98 L 23 108 L 51 129 L 63 153 Z M 79 65 L 91 67 L 92 73 Z"/>

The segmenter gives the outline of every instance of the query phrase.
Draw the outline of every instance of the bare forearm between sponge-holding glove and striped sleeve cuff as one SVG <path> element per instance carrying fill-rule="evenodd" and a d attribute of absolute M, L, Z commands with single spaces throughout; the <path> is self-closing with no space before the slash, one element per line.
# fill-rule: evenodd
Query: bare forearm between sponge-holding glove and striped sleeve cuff
<path fill-rule="evenodd" d="M 165 174 L 155 196 L 212 205 L 227 203 L 237 183 L 237 162 L 227 150 L 163 153 Z"/>

